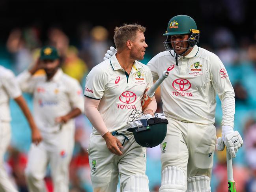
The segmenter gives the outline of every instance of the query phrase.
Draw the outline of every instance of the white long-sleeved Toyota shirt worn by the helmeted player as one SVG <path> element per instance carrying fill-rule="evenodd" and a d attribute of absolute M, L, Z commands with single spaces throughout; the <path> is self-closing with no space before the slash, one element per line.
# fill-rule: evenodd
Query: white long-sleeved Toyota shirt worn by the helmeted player
<path fill-rule="evenodd" d="M 216 93 L 222 103 L 222 126 L 234 127 L 234 89 L 220 59 L 204 48 L 194 46 L 187 56 L 175 58 L 169 51 L 153 57 L 147 64 L 156 80 L 167 70 L 161 84 L 163 111 L 173 119 L 212 124 L 215 122 Z"/>

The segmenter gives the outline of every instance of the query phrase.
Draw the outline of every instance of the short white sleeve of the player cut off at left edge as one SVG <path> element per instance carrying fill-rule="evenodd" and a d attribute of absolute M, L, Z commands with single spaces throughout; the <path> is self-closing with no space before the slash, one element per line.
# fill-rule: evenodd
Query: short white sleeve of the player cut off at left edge
<path fill-rule="evenodd" d="M 7 73 L 2 76 L 2 83 L 9 97 L 11 97 L 12 99 L 15 99 L 22 95 L 19 84 L 15 79 L 15 75 L 11 71 L 7 71 Z"/>

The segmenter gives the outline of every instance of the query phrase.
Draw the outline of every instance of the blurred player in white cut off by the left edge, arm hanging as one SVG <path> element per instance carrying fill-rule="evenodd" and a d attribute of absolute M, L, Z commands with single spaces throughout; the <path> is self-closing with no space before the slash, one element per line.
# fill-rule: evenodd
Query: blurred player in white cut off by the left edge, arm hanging
<path fill-rule="evenodd" d="M 38 145 L 41 140 L 41 134 L 36 127 L 30 110 L 22 97 L 21 89 L 15 80 L 13 72 L 0 65 L 0 191 L 17 192 L 17 189 L 9 181 L 4 169 L 4 153 L 11 141 L 11 114 L 9 100 L 14 99 L 25 115 L 31 129 L 32 142 Z"/>

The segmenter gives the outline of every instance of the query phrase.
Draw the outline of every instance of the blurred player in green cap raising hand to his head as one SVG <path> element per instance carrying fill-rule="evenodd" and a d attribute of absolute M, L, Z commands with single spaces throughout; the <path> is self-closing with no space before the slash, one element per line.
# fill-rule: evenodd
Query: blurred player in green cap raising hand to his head
<path fill-rule="evenodd" d="M 45 192 L 44 177 L 50 164 L 55 192 L 69 191 L 69 162 L 74 147 L 75 121 L 84 111 L 79 82 L 65 75 L 55 47 L 43 47 L 40 58 L 17 80 L 22 91 L 34 96 L 34 118 L 43 136 L 38 146 L 31 145 L 26 178 L 31 192 Z M 33 76 L 38 69 L 46 75 Z"/>

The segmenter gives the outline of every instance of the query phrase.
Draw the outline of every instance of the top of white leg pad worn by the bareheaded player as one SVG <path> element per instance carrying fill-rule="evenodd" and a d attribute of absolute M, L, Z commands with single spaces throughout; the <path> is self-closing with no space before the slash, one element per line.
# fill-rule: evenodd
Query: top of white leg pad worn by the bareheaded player
<path fill-rule="evenodd" d="M 148 177 L 142 174 L 131 176 L 123 187 L 123 192 L 149 192 Z"/>

